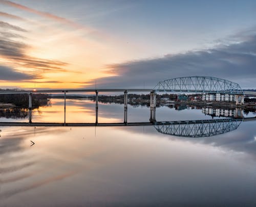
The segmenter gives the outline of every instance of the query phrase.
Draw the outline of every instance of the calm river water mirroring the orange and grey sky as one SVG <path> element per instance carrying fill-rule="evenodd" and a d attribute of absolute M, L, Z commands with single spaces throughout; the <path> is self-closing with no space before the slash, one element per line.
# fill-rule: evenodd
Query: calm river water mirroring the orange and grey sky
<path fill-rule="evenodd" d="M 149 118 L 147 107 L 128 107 L 128 122 Z M 156 118 L 212 119 L 168 107 Z M 60 99 L 33 111 L 34 122 L 63 120 Z M 94 102 L 68 100 L 66 121 L 94 122 Z M 98 121 L 123 122 L 123 105 L 99 104 Z M 255 126 L 205 138 L 154 126 L 0 127 L 0 206 L 255 206 Z"/>

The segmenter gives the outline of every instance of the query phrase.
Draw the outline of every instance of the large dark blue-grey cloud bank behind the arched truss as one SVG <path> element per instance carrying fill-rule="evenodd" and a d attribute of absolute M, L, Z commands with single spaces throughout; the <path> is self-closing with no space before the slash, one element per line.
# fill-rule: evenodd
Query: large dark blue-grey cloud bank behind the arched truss
<path fill-rule="evenodd" d="M 239 43 L 222 44 L 211 49 L 108 65 L 106 72 L 115 76 L 97 79 L 97 86 L 142 88 L 145 82 L 146 88 L 152 88 L 159 81 L 203 75 L 234 81 L 242 87 L 256 87 L 255 67 L 256 35 L 253 34 Z M 87 82 L 94 83 L 95 80 Z"/>

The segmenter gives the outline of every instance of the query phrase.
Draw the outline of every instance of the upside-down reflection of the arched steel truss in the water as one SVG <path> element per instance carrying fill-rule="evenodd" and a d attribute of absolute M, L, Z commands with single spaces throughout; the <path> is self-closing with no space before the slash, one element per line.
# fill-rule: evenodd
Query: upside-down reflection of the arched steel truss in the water
<path fill-rule="evenodd" d="M 156 122 L 158 132 L 179 137 L 211 137 L 236 130 L 243 119 Z"/>

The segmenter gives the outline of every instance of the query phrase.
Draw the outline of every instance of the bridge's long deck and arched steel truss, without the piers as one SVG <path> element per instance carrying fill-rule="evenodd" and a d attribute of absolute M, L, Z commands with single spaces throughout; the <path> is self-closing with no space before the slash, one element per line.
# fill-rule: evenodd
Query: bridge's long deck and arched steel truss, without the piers
<path fill-rule="evenodd" d="M 153 89 L 46 89 L 46 90 L 3 90 L 0 94 L 18 93 L 78 93 L 78 92 L 195 92 L 195 93 L 224 93 L 245 95 L 239 84 L 210 76 L 177 77 L 160 81 Z"/>

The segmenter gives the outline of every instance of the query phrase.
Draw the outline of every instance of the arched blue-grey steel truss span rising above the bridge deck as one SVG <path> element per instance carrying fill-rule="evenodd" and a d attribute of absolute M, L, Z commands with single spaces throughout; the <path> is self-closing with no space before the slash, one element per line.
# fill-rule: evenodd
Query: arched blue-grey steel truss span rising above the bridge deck
<path fill-rule="evenodd" d="M 217 77 L 177 77 L 159 82 L 156 91 L 244 94 L 239 84 Z"/>

